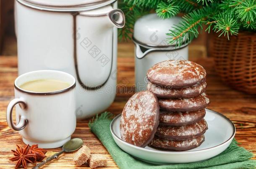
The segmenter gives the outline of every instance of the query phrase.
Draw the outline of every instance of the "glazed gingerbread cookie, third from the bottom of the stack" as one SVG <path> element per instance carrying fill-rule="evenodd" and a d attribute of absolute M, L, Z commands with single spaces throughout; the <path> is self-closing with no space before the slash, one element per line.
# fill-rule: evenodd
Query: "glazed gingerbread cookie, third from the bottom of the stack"
<path fill-rule="evenodd" d="M 204 108 L 197 111 L 183 112 L 168 112 L 165 110 L 160 110 L 159 124 L 166 126 L 184 126 L 188 124 L 193 124 L 203 119 L 205 113 L 206 111 Z"/>

